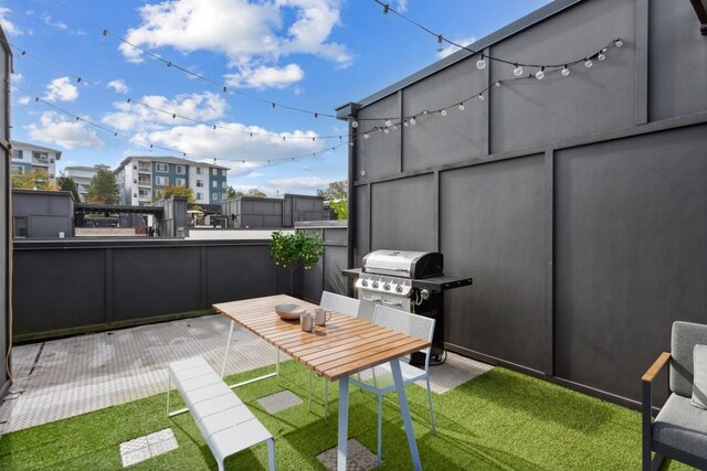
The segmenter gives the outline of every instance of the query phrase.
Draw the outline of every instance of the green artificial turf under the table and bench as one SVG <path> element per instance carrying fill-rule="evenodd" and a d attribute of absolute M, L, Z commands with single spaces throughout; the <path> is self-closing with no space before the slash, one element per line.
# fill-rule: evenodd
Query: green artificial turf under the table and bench
<path fill-rule="evenodd" d="M 263 374 L 235 375 L 229 382 Z M 308 373 L 281 364 L 279 379 L 236 389 L 275 437 L 279 470 L 324 469 L 316 456 L 337 445 L 336 386 L 329 387 L 329 421 L 323 419 L 323 381 L 316 381 L 307 409 Z M 303 404 L 274 416 L 256 399 L 289 389 Z M 641 417 L 604 403 L 504 368 L 434 395 L 437 433 L 430 430 L 426 389 L 407 389 L 424 469 L 444 470 L 632 470 L 641 468 Z M 181 407 L 172 393 L 172 408 Z M 349 437 L 376 450 L 377 402 L 351 387 Z M 120 469 L 119 443 L 171 427 L 179 448 L 143 461 L 135 470 L 205 470 L 217 464 L 189 414 L 166 416 L 165 395 L 59 420 L 0 438 L 0 470 Z M 226 459 L 226 469 L 266 469 L 265 445 Z M 384 470 L 411 469 L 410 452 L 394 394 L 383 406 Z M 671 462 L 669 469 L 687 469 Z"/>

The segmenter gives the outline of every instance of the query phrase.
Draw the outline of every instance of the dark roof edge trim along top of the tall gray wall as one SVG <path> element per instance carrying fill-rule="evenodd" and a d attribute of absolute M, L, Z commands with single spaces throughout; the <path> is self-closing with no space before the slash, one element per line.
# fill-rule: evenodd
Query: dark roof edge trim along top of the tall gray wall
<path fill-rule="evenodd" d="M 546 4 L 545 7 L 541 7 L 539 9 L 537 9 L 534 12 L 530 12 L 528 14 L 526 14 L 525 17 L 514 21 L 510 24 L 507 24 L 505 26 L 503 26 L 499 30 L 494 31 L 493 33 L 482 38 L 481 40 L 475 41 L 474 43 L 469 44 L 471 49 L 473 49 L 474 51 L 482 51 L 485 47 L 492 46 L 495 43 L 498 43 L 509 36 L 513 36 L 514 34 L 517 34 L 524 30 L 527 30 L 528 28 L 547 20 L 550 17 L 555 17 L 556 14 L 560 13 L 561 11 L 573 7 L 577 3 L 581 3 L 585 0 L 555 0 L 551 3 Z M 415 72 L 414 74 L 403 78 L 402 81 L 395 82 L 394 84 L 383 88 L 380 92 L 377 92 L 372 95 L 367 96 L 366 98 L 357 101 L 358 107 L 362 108 L 365 106 L 371 105 L 389 95 L 392 95 L 394 93 L 397 93 L 398 90 L 409 87 L 410 85 L 422 81 L 423 78 L 433 75 L 435 73 L 437 73 L 439 71 L 449 67 L 452 64 L 455 64 L 460 61 L 463 61 L 464 58 L 468 57 L 469 55 L 472 55 L 471 52 L 466 51 L 466 50 L 458 50 L 453 54 L 450 54 L 449 56 L 441 58 L 440 61 L 435 62 L 434 64 L 431 64 L 429 66 L 426 66 L 425 68 Z M 349 106 L 349 104 L 345 104 L 341 105 L 340 107 L 337 108 L 337 110 L 345 108 Z M 342 115 L 342 114 L 341 114 Z M 339 119 L 346 119 L 345 116 L 337 116 Z"/>

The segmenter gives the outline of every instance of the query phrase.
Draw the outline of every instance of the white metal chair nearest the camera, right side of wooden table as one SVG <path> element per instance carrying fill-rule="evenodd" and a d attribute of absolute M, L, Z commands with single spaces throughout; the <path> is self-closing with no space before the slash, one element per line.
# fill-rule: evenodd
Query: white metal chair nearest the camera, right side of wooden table
<path fill-rule="evenodd" d="M 432 342 L 432 334 L 434 332 L 434 319 L 432 318 L 425 318 L 379 304 L 376 306 L 376 310 L 373 311 L 373 322 L 388 329 Z M 412 366 L 402 360 L 399 360 L 399 362 L 403 387 L 421 379 L 426 381 L 428 398 L 430 402 L 430 420 L 432 424 L 432 433 L 435 433 L 434 408 L 432 406 L 432 390 L 430 389 L 430 351 L 431 346 L 421 351 L 425 353 L 424 370 Z M 378 465 L 380 467 L 383 432 L 383 396 L 395 390 L 390 364 L 386 363 L 352 375 L 350 384 L 355 384 L 361 389 L 369 390 L 378 396 Z"/>

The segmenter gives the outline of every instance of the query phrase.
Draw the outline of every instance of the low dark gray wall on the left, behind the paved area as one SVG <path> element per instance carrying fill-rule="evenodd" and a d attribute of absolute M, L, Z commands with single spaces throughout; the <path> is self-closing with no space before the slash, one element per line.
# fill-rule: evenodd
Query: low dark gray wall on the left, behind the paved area
<path fill-rule="evenodd" d="M 208 312 L 215 302 L 285 292 L 288 278 L 272 263 L 267 244 L 15 242 L 15 339 L 46 339 L 194 315 Z"/>

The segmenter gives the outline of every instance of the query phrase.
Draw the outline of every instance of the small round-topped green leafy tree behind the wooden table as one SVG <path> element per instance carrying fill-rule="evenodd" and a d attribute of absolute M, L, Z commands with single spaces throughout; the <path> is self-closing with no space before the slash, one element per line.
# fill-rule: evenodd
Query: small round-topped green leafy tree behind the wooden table
<path fill-rule="evenodd" d="M 293 292 L 295 270 L 303 267 L 312 268 L 324 255 L 324 239 L 319 234 L 297 232 L 284 234 L 282 231 L 273 233 L 270 240 L 270 255 L 278 267 L 289 271 L 289 292 Z"/>

